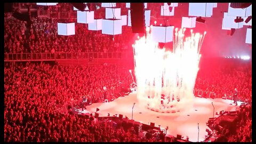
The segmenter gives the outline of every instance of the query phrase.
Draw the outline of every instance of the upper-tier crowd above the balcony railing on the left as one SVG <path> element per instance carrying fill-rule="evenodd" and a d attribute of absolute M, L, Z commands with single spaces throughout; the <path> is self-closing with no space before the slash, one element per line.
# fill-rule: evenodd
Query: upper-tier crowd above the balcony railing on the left
<path fill-rule="evenodd" d="M 69 19 L 71 22 L 72 20 Z M 134 34 L 131 27 L 123 26 L 122 35 L 101 34 L 88 30 L 83 23 L 76 23 L 76 34 L 58 35 L 56 19 L 33 18 L 33 25 L 26 34 L 26 22 L 5 20 L 5 53 L 54 53 L 54 52 L 123 52 L 131 47 Z"/>

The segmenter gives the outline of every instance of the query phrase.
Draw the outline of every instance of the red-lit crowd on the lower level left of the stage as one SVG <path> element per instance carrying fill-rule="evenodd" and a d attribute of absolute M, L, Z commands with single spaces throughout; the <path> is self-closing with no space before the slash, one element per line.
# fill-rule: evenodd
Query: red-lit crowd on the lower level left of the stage
<path fill-rule="evenodd" d="M 94 141 L 93 134 L 86 131 L 92 125 L 63 114 L 58 107 L 67 107 L 72 101 L 79 103 L 82 95 L 92 102 L 102 102 L 95 93 L 103 91 L 103 86 L 117 89 L 132 83 L 129 70 L 115 65 L 60 67 L 27 63 L 6 66 L 4 75 L 5 141 Z M 94 134 L 101 141 L 99 133 Z M 102 141 L 111 138 L 101 137 Z"/>

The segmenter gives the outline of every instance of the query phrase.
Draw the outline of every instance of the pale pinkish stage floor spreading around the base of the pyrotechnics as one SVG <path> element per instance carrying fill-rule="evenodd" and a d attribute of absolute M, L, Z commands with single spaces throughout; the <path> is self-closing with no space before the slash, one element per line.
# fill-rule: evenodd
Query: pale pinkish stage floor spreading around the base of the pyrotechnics
<path fill-rule="evenodd" d="M 177 134 L 180 134 L 184 139 L 188 136 L 189 141 L 196 142 L 198 135 L 197 123 L 199 123 L 199 141 L 203 141 L 205 135 L 207 135 L 205 130 L 209 129 L 209 127 L 206 126 L 206 123 L 210 117 L 213 117 L 212 102 L 215 107 L 214 117 L 218 117 L 218 115 L 215 115 L 216 112 L 219 113 L 221 110 L 235 111 L 236 108 L 241 105 L 241 102 L 237 102 L 238 106 L 235 106 L 234 104 L 229 105 L 230 100 L 195 98 L 194 107 L 189 111 L 163 114 L 139 106 L 136 96 L 136 92 L 133 92 L 111 102 L 93 103 L 90 106 L 86 106 L 86 110 L 82 111 L 81 109 L 79 112 L 94 113 L 96 108 L 99 108 L 99 116 L 108 116 L 108 113 L 110 116 L 115 114 L 119 116 L 119 114 L 122 114 L 123 117 L 127 116 L 129 119 L 132 119 L 132 106 L 135 102 L 133 108 L 134 121 L 143 124 L 150 124 L 150 122 L 152 122 L 155 123 L 156 127 L 161 125 L 161 129 L 165 129 L 165 127 L 168 126 L 169 130 L 167 130 L 167 134 L 174 135 L 175 137 Z"/>

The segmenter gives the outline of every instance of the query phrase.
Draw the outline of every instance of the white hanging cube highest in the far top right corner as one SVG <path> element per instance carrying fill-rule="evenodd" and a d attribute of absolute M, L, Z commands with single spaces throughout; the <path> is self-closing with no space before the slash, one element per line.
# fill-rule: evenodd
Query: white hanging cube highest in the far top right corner
<path fill-rule="evenodd" d="M 234 17 L 248 17 L 252 15 L 252 5 L 245 9 L 234 9 L 230 7 L 231 3 L 228 3 L 228 15 Z"/>

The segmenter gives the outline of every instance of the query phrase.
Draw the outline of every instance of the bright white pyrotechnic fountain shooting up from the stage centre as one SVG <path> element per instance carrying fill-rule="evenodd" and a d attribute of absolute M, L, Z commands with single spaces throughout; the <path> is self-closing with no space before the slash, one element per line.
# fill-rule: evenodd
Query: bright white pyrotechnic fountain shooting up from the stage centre
<path fill-rule="evenodd" d="M 152 41 L 150 28 L 147 38 L 133 45 L 137 99 L 140 105 L 161 113 L 172 113 L 193 106 L 199 54 L 204 35 L 194 34 L 184 40 L 185 28 L 175 28 L 173 51 L 159 49 Z"/>

